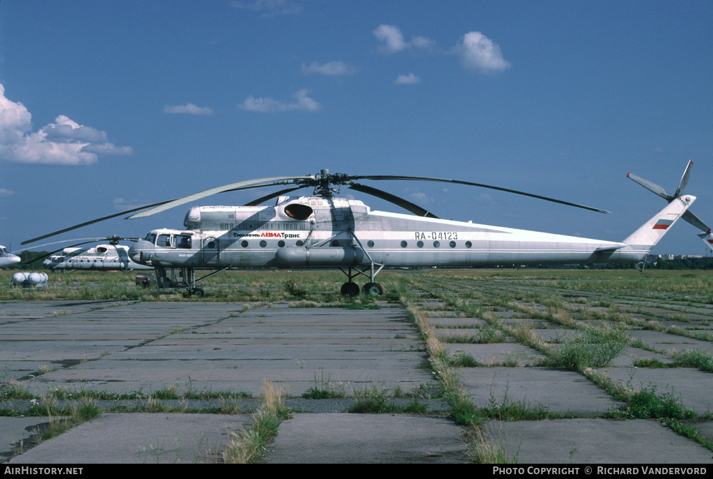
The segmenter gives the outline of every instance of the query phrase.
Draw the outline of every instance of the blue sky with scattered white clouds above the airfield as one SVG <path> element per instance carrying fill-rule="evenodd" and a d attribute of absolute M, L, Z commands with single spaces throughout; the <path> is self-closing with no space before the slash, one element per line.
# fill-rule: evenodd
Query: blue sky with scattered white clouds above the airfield
<path fill-rule="evenodd" d="M 627 172 L 671 193 L 692 160 L 713 225 L 712 24 L 709 1 L 2 1 L 0 243 L 322 168 L 591 205 L 612 214 L 368 182 L 439 217 L 621 240 L 665 205 Z M 187 209 L 54 240 L 180 228 Z M 696 233 L 654 252 L 704 254 Z"/>

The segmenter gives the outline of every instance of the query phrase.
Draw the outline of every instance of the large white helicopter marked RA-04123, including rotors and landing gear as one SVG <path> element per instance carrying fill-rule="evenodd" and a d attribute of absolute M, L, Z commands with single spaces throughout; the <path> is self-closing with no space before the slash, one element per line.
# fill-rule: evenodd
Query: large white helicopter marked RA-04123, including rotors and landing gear
<path fill-rule="evenodd" d="M 199 296 L 203 291 L 196 284 L 226 269 L 311 267 L 341 269 L 347 275 L 347 282 L 342 285 L 342 294 L 352 296 L 360 291 L 353 280 L 362 274 L 369 281 L 361 290 L 378 296 L 383 290 L 376 283 L 375 277 L 384 267 L 642 262 L 679 217 L 694 222 L 698 227 L 705 227 L 694 215 L 685 215 L 695 200 L 695 197 L 684 194 L 690 165 L 676 193 L 672 197 L 666 196 L 668 205 L 622 242 L 441 220 L 411 202 L 374 187 L 361 185 L 356 180 L 450 182 L 513 192 L 607 213 L 584 205 L 460 180 L 330 174 L 329 170 L 322 170 L 317 175 L 236 182 L 98 218 L 29 239 L 23 244 L 127 213 L 137 212 L 127 219 L 153 215 L 219 192 L 293 185 L 244 206 L 192 207 L 185 216 L 185 230 L 153 230 L 143 239 L 138 239 L 128 254 L 135 262 L 155 268 L 159 287 L 183 287 L 190 294 Z M 652 183 L 645 180 L 640 183 L 652 189 Z M 374 211 L 359 200 L 335 197 L 334 194 L 339 194 L 342 185 L 393 202 L 409 210 L 412 215 Z M 304 187 L 313 187 L 312 195 L 287 195 Z M 258 206 L 275 197 L 275 206 Z M 197 279 L 197 269 L 211 269 L 213 272 Z"/>

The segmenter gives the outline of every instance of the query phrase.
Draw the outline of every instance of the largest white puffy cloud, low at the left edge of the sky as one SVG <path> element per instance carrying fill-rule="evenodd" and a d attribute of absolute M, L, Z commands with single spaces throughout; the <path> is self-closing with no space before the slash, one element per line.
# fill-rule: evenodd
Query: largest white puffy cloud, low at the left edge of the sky
<path fill-rule="evenodd" d="M 110 143 L 101 130 L 79 125 L 65 115 L 32 132 L 32 115 L 5 97 L 0 84 L 0 159 L 37 165 L 91 165 L 98 155 L 130 155 L 130 147 Z"/>

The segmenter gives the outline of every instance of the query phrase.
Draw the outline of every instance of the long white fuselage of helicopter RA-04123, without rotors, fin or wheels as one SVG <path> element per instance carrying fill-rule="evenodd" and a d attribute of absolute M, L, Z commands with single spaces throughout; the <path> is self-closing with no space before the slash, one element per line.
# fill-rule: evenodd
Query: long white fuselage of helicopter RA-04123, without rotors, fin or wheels
<path fill-rule="evenodd" d="M 371 211 L 358 200 L 280 197 L 274 207 L 193 207 L 130 257 L 153 267 L 482 267 L 640 262 L 648 247 Z"/>

